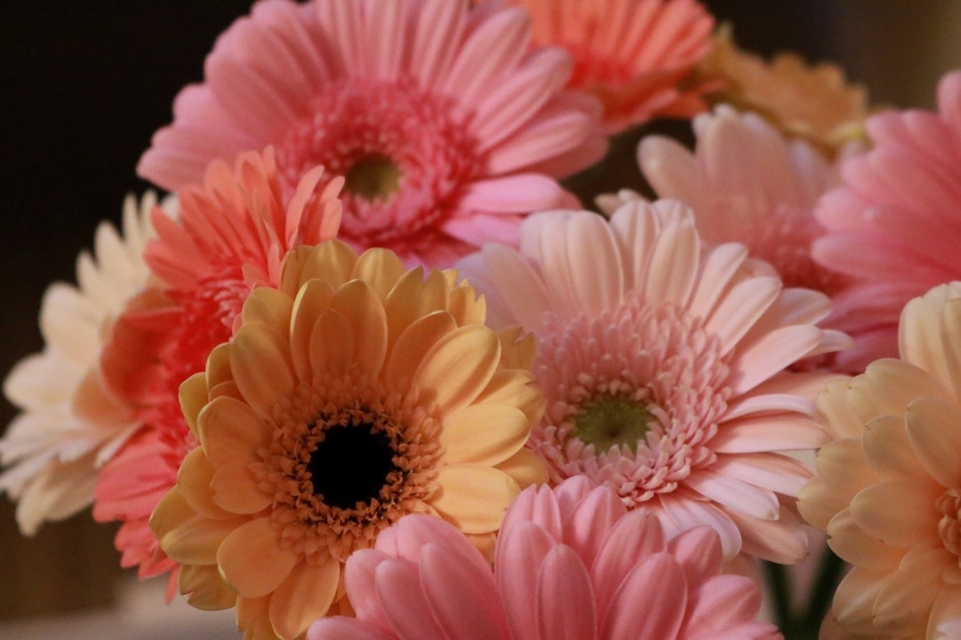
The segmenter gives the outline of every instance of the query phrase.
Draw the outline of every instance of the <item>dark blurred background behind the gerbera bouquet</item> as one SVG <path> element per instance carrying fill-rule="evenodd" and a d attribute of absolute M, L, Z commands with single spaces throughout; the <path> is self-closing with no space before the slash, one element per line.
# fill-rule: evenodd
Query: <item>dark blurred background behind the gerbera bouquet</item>
<path fill-rule="evenodd" d="M 744 48 L 842 62 L 873 102 L 933 105 L 961 66 L 961 3 L 928 0 L 714 0 Z M 924 9 L 919 9 L 919 6 Z M 0 8 L 0 376 L 40 349 L 44 288 L 73 281 L 77 253 L 117 221 L 150 136 L 179 88 L 202 78 L 214 38 L 246 0 L 3 3 Z M 0 404 L 0 430 L 12 418 Z M 0 620 L 107 603 L 118 574 L 112 528 L 85 512 L 23 540 L 0 498 Z M 78 578 L 84 584 L 78 584 Z"/>

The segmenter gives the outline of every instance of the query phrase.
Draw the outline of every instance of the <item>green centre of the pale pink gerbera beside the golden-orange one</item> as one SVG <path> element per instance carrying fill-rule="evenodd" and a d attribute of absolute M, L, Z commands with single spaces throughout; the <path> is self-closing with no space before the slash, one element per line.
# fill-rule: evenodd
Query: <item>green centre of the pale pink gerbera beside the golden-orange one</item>
<path fill-rule="evenodd" d="M 627 396 L 603 394 L 580 403 L 572 422 L 574 435 L 594 445 L 599 453 L 615 445 L 627 445 L 636 453 L 653 420 L 647 404 Z"/>

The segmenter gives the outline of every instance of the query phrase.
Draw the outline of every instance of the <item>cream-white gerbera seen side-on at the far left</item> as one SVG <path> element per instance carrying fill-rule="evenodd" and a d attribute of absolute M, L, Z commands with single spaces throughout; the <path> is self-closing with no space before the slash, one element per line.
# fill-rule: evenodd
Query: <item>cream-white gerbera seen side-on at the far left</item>
<path fill-rule="evenodd" d="M 136 405 L 105 378 L 101 348 L 128 300 L 151 280 L 143 249 L 153 235 L 148 211 L 156 202 L 150 192 L 139 205 L 128 197 L 122 234 L 101 223 L 93 255 L 77 259 L 78 285 L 47 289 L 43 351 L 4 381 L 4 393 L 22 412 L 0 440 L 9 467 L 0 489 L 19 501 L 16 520 L 26 535 L 89 505 L 97 469 L 136 428 Z"/>

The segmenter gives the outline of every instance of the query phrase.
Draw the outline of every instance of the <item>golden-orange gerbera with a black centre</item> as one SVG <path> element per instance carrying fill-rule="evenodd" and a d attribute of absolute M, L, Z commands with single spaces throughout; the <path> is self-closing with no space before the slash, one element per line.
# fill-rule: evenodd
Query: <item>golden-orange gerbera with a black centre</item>
<path fill-rule="evenodd" d="M 235 598 L 249 636 L 297 637 L 345 610 L 344 561 L 403 515 L 487 536 L 543 480 L 524 449 L 543 398 L 509 366 L 530 361 L 530 339 L 483 325 L 455 278 L 331 240 L 251 293 L 234 339 L 181 388 L 200 445 L 151 519 L 192 603 Z"/>

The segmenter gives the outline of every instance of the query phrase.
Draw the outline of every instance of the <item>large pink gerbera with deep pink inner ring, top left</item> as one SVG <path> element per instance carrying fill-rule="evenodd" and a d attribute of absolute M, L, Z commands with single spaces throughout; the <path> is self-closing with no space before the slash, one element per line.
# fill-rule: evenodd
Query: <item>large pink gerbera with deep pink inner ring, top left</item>
<path fill-rule="evenodd" d="M 600 106 L 562 90 L 560 49 L 529 49 L 518 8 L 466 0 L 258 3 L 217 40 L 139 173 L 176 189 L 214 158 L 277 148 L 284 188 L 343 176 L 342 239 L 447 265 L 514 242 L 554 180 L 599 160 Z"/>

